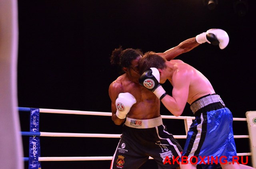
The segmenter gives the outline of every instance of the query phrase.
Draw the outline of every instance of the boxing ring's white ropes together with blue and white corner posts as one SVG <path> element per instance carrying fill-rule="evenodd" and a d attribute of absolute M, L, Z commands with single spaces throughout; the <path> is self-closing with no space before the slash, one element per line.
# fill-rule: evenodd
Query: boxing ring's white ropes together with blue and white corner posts
<path fill-rule="evenodd" d="M 87 133 L 56 133 L 56 132 L 40 132 L 39 131 L 39 115 L 40 113 L 50 114 L 78 114 L 93 116 L 112 116 L 110 112 L 89 112 L 78 110 L 57 110 L 45 108 L 26 108 L 18 107 L 19 112 L 30 112 L 30 131 L 22 131 L 22 136 L 29 136 L 29 152 L 28 157 L 24 157 L 24 161 L 28 161 L 29 169 L 40 169 L 40 161 L 100 161 L 112 160 L 112 156 L 94 156 L 94 157 L 41 157 L 40 137 L 86 137 L 86 138 L 120 138 L 121 134 L 87 134 Z M 186 133 L 195 117 L 191 116 L 166 116 L 163 119 L 183 120 Z M 250 152 L 237 153 L 238 156 L 250 156 L 252 167 L 256 168 L 256 111 L 246 112 L 246 118 L 233 118 L 233 121 L 246 121 L 248 135 L 234 135 L 235 139 L 246 138 L 250 144 Z M 176 139 L 186 139 L 186 135 L 174 135 Z M 43 147 L 42 147 L 43 148 Z M 150 157 L 149 159 L 152 159 Z"/>

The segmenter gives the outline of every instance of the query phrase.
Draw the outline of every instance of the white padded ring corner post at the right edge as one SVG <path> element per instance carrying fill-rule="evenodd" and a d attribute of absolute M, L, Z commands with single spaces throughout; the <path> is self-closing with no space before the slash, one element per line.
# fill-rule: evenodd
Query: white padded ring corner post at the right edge
<path fill-rule="evenodd" d="M 248 111 L 245 115 L 248 124 L 250 151 L 252 153 L 252 167 L 256 168 L 256 111 Z"/>

